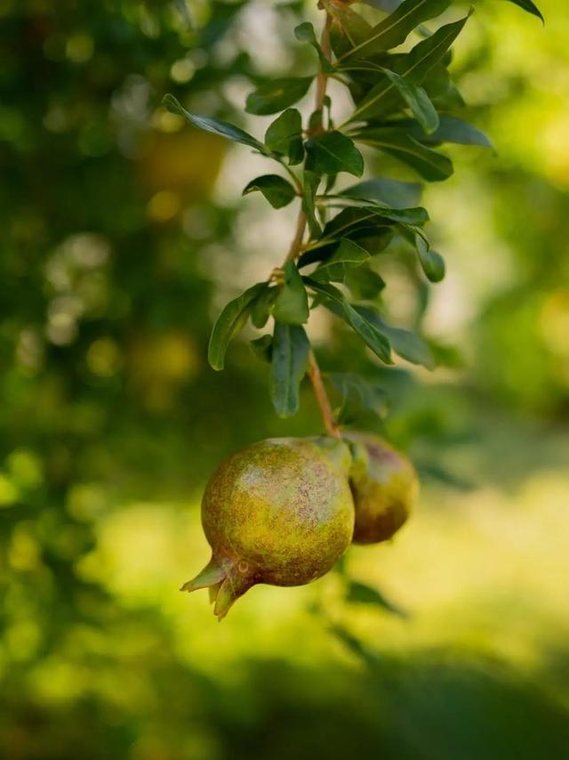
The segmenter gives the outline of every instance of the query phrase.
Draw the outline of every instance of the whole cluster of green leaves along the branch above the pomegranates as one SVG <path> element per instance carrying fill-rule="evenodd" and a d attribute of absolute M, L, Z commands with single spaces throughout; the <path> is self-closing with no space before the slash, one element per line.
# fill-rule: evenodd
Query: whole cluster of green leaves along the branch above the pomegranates
<path fill-rule="evenodd" d="M 541 18 L 529 0 L 512 2 Z M 429 214 L 419 205 L 421 182 L 441 182 L 453 174 L 453 162 L 441 150 L 445 144 L 492 148 L 485 134 L 465 120 L 465 103 L 449 69 L 453 44 L 472 11 L 453 18 L 452 0 L 368 4 L 378 9 L 375 24 L 349 4 L 321 0 L 329 19 L 330 54 L 311 23 L 295 29 L 298 41 L 314 48 L 315 69 L 309 76 L 276 78 L 247 97 L 248 113 L 278 114 L 262 141 L 237 126 L 188 112 L 171 95 L 165 98 L 166 106 L 191 125 L 276 162 L 280 173 L 248 182 L 244 195 L 260 192 L 276 209 L 298 200 L 306 219 L 309 237 L 301 240 L 299 255 L 293 252 L 270 279 L 228 303 L 209 348 L 212 368 L 221 369 L 230 339 L 247 320 L 262 328 L 272 317 L 272 336 L 254 341 L 253 348 L 271 363 L 270 392 L 280 416 L 299 408 L 310 352 L 304 326 L 310 311 L 320 306 L 343 320 L 383 364 L 393 364 L 395 353 L 434 368 L 421 336 L 389 325 L 382 316 L 386 283 L 374 260 L 397 241 L 414 252 L 426 280 L 444 279 L 445 262 L 425 231 Z M 328 97 L 303 124 L 295 106 L 317 77 L 320 84 L 333 78 L 349 92 L 353 109 L 341 125 L 333 122 Z M 339 175 L 363 177 L 362 147 L 395 159 L 415 181 L 376 175 L 337 190 Z M 365 400 L 370 394 L 360 396 Z"/>

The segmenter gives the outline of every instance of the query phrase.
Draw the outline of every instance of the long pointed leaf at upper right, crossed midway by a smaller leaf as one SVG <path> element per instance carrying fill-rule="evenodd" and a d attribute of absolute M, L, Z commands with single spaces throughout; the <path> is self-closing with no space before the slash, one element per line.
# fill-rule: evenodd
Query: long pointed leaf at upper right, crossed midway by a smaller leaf
<path fill-rule="evenodd" d="M 396 74 L 405 77 L 413 85 L 421 85 L 429 71 L 443 60 L 468 19 L 469 16 L 465 16 L 452 24 L 446 24 L 437 29 L 434 35 L 416 44 L 410 53 L 397 56 L 394 64 Z M 389 80 L 389 77 L 382 75 L 377 85 L 374 85 L 365 98 L 358 103 L 350 121 L 385 116 L 397 107 L 399 98 L 396 85 Z"/>

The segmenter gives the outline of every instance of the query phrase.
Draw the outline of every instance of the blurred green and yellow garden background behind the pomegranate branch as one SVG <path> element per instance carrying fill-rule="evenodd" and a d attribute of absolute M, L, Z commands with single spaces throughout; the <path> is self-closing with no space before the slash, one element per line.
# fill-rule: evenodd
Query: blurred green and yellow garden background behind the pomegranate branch
<path fill-rule="evenodd" d="M 379 264 L 441 367 L 381 370 L 310 328 L 326 369 L 387 393 L 350 414 L 421 471 L 413 521 L 218 625 L 177 591 L 208 557 L 204 481 L 320 422 L 309 388 L 276 418 L 246 340 L 208 368 L 212 318 L 282 259 L 293 211 L 242 200 L 272 167 L 160 103 L 262 135 L 244 94 L 313 66 L 293 27 L 317 11 L 214 0 L 190 28 L 165 0 L 0 4 L 0 756 L 567 756 L 569 13 L 541 8 L 545 28 L 480 2 L 457 45 L 496 150 L 449 150 L 426 192 L 445 282 Z"/>

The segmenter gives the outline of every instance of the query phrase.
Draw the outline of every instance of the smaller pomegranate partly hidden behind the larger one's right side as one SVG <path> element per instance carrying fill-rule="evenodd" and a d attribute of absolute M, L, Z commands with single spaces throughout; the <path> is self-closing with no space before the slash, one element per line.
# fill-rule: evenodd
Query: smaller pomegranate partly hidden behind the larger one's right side
<path fill-rule="evenodd" d="M 347 433 L 354 465 L 350 485 L 356 506 L 355 544 L 392 538 L 417 496 L 417 473 L 409 459 L 371 433 Z"/>

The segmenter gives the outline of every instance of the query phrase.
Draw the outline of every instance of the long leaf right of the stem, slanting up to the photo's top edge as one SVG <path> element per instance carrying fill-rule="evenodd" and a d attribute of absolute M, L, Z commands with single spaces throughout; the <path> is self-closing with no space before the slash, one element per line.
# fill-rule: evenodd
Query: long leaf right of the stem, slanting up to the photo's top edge
<path fill-rule="evenodd" d="M 368 58 L 391 50 L 405 42 L 407 36 L 423 21 L 440 16 L 452 0 L 405 0 L 387 19 L 373 27 L 371 35 L 357 44 L 343 58 Z"/>

